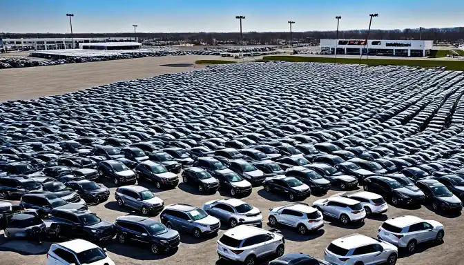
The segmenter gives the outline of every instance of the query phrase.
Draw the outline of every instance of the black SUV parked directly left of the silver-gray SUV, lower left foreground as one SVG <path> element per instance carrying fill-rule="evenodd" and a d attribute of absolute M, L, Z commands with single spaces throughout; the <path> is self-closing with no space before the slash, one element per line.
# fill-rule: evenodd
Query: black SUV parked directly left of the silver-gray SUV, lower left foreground
<path fill-rule="evenodd" d="M 180 244 L 180 235 L 176 230 L 168 229 L 161 222 L 148 217 L 126 215 L 115 220 L 117 239 L 125 244 L 133 240 L 150 247 L 151 253 L 175 249 Z"/>

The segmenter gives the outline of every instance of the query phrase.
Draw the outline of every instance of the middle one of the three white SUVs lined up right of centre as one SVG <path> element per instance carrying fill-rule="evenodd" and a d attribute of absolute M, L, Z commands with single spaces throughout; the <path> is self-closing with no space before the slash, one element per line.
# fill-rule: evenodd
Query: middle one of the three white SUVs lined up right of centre
<path fill-rule="evenodd" d="M 360 202 L 338 195 L 327 199 L 318 199 L 313 203 L 313 207 L 320 210 L 322 215 L 339 219 L 342 224 L 355 221 L 363 222 L 366 217 L 366 211 Z"/>

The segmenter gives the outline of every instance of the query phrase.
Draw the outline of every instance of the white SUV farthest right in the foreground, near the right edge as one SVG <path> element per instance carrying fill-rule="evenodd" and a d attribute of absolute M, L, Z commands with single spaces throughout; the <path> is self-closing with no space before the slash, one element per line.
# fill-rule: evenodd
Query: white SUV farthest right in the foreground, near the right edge
<path fill-rule="evenodd" d="M 417 244 L 436 240 L 445 236 L 443 224 L 406 215 L 388 219 L 379 228 L 377 237 L 413 253 Z"/>

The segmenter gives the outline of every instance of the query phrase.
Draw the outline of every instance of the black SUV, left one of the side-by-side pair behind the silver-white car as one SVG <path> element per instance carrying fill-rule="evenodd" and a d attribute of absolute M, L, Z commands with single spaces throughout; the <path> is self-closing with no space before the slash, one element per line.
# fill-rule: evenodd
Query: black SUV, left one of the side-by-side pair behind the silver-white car
<path fill-rule="evenodd" d="M 182 181 L 184 181 L 185 184 L 198 187 L 200 193 L 215 192 L 219 189 L 218 179 L 215 179 L 203 168 L 186 168 L 186 170 L 182 172 Z"/>

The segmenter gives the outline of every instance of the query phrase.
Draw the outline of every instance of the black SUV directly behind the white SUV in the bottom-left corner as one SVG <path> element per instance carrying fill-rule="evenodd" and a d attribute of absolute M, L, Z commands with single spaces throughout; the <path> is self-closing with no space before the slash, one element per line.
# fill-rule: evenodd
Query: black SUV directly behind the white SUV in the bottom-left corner
<path fill-rule="evenodd" d="M 100 242 L 112 239 L 116 235 L 113 224 L 101 220 L 89 210 L 53 209 L 50 213 L 50 220 L 52 221 L 50 228 L 55 231 L 57 237 Z"/>

